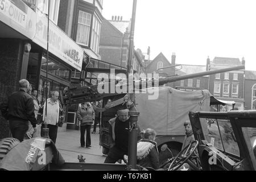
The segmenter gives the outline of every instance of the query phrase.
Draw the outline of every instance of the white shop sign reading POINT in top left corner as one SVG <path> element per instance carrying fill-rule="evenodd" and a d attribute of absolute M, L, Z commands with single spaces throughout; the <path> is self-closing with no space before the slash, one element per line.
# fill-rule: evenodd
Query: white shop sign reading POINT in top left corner
<path fill-rule="evenodd" d="M 27 38 L 35 36 L 35 12 L 20 0 L 0 0 L 0 21 Z"/>

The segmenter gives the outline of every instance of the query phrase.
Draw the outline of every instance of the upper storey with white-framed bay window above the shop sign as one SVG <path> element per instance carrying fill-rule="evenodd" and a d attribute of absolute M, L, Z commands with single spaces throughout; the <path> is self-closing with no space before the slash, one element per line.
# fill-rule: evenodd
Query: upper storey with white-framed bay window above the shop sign
<path fill-rule="evenodd" d="M 89 59 L 101 60 L 102 0 L 60 1 L 57 25 L 83 49 Z"/>

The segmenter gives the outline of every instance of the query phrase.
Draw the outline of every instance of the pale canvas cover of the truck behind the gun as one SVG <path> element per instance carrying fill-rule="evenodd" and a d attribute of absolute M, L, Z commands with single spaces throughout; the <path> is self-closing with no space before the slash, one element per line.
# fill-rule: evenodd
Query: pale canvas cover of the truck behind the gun
<path fill-rule="evenodd" d="M 148 88 L 135 94 L 136 107 L 140 112 L 141 129 L 154 129 L 158 135 L 184 135 L 184 122 L 189 111 L 209 111 L 208 90 L 184 92 L 170 87 Z M 159 93 L 156 100 L 149 100 L 151 93 Z"/>

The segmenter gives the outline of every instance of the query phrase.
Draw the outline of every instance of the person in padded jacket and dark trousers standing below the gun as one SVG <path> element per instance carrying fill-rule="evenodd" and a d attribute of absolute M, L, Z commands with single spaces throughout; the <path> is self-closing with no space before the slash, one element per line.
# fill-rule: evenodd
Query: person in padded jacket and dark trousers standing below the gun
<path fill-rule="evenodd" d="M 84 104 L 82 104 L 82 106 L 79 107 L 79 109 L 77 110 L 77 117 L 80 120 L 81 147 L 85 147 L 85 144 L 86 144 L 86 148 L 89 148 L 91 147 L 90 146 L 90 128 L 92 127 L 92 124 L 95 118 L 95 111 L 93 110 L 92 105 L 90 105 L 89 102 L 85 102 Z M 86 130 L 86 143 L 84 140 L 85 130 Z"/>

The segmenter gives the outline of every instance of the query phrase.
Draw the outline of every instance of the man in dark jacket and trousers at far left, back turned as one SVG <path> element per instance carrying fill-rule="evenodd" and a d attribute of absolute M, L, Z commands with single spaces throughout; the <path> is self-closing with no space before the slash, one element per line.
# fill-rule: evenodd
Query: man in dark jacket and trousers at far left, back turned
<path fill-rule="evenodd" d="M 23 141 L 28 130 L 28 121 L 31 122 L 36 131 L 36 118 L 32 97 L 27 94 L 30 83 L 27 80 L 19 81 L 19 91 L 11 94 L 1 105 L 0 110 L 3 117 L 9 120 L 13 138 Z"/>

